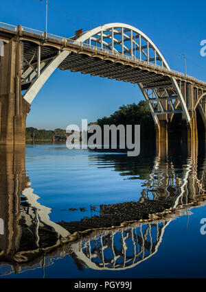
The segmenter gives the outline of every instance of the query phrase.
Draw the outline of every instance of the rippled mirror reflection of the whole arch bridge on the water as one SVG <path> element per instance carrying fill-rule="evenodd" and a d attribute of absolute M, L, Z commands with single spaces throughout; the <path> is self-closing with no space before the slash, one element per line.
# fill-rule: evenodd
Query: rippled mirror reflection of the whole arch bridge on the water
<path fill-rule="evenodd" d="M 129 162 L 127 156 L 93 154 L 91 164 L 101 167 L 104 160 L 113 160 L 119 175 L 144 179 L 139 201 L 103 205 L 98 216 L 56 223 L 49 219 L 51 208 L 41 205 L 33 193 L 24 149 L 0 150 L 1 276 L 47 267 L 66 254 L 78 269 L 135 267 L 158 252 L 172 220 L 191 215 L 190 210 L 203 206 L 206 199 L 205 159 L 198 160 L 196 144 L 181 167 L 172 160 L 174 156 L 157 153 L 152 171 L 142 169 L 134 158 Z"/>

